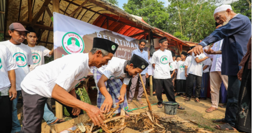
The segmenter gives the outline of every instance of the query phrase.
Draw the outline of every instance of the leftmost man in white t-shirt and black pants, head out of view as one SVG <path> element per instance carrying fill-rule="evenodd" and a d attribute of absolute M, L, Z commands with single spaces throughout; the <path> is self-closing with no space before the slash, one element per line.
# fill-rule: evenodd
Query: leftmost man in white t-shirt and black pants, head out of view
<path fill-rule="evenodd" d="M 9 49 L 0 45 L 0 124 L 1 132 L 12 131 L 12 101 L 16 98 L 15 69 L 18 66 Z M 4 120 L 4 121 L 3 121 Z"/>

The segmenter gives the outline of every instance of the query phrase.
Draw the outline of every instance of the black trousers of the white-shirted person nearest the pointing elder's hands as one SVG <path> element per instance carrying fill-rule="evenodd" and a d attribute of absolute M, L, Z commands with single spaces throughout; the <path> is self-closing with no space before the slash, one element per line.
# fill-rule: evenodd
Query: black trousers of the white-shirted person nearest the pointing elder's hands
<path fill-rule="evenodd" d="M 191 98 L 193 93 L 194 82 L 196 80 L 196 90 L 195 90 L 195 98 L 199 98 L 200 90 L 201 90 L 201 82 L 202 76 L 196 76 L 194 74 L 189 73 L 187 76 L 188 84 L 187 84 L 187 97 Z"/>

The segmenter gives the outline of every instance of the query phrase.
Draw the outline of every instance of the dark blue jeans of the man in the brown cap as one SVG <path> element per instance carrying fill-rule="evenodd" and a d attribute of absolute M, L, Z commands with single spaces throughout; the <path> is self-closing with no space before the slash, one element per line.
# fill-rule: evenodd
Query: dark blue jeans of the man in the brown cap
<path fill-rule="evenodd" d="M 21 130 L 20 122 L 18 119 L 18 113 L 17 113 L 17 103 L 19 96 L 21 95 L 21 90 L 17 91 L 17 97 L 12 101 L 12 131 L 11 133 L 14 132 L 19 132 Z"/>

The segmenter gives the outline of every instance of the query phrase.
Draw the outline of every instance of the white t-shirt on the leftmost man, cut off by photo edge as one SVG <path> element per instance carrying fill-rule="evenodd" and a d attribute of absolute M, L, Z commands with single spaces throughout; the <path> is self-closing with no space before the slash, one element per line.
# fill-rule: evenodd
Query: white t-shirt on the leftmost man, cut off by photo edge
<path fill-rule="evenodd" d="M 14 69 L 18 69 L 18 66 L 11 52 L 6 46 L 0 45 L 0 91 L 11 86 L 7 71 Z"/>

